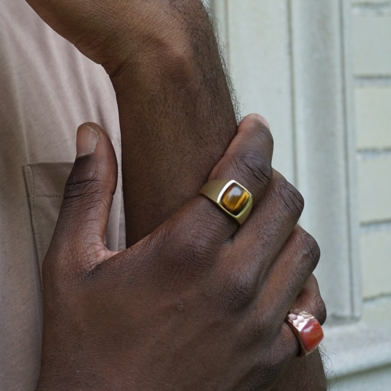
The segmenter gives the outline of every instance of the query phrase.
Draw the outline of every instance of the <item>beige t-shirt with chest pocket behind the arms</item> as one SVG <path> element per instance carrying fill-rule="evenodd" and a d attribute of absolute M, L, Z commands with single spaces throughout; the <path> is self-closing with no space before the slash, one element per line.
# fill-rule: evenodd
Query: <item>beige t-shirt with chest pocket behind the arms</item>
<path fill-rule="evenodd" d="M 0 390 L 34 390 L 40 367 L 40 268 L 74 161 L 77 127 L 101 124 L 120 162 L 114 91 L 24 0 L 0 7 Z M 124 247 L 119 181 L 108 245 Z"/>

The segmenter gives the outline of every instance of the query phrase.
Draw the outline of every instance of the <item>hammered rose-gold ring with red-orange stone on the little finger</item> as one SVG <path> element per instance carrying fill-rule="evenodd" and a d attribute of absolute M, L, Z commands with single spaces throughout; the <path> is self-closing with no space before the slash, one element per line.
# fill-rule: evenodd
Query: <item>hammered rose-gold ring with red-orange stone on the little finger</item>
<path fill-rule="evenodd" d="M 304 357 L 313 352 L 322 342 L 322 326 L 308 312 L 291 308 L 286 315 L 285 322 L 292 328 L 302 349 L 298 357 Z"/>

